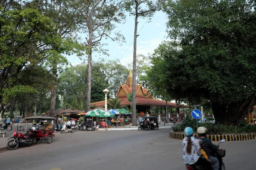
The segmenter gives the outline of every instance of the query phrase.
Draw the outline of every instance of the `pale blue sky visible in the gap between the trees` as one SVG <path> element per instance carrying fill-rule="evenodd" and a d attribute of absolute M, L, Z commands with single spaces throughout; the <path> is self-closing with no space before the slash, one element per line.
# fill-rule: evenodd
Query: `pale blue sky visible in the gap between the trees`
<path fill-rule="evenodd" d="M 157 11 L 152 17 L 151 22 L 148 23 L 147 18 L 138 19 L 138 33 L 140 36 L 137 37 L 137 55 L 154 53 L 154 49 L 159 44 L 167 39 L 166 33 L 166 14 L 162 11 Z M 145 24 L 145 25 L 144 25 Z M 144 26 L 143 26 L 144 25 Z M 118 42 L 114 42 L 110 39 L 102 39 L 102 42 L 108 43 L 105 46 L 107 48 L 109 56 L 105 56 L 98 53 L 93 53 L 93 61 L 99 61 L 100 58 L 105 59 L 119 59 L 122 65 L 127 66 L 128 63 L 133 61 L 133 39 L 134 39 L 134 16 L 127 16 L 125 24 L 116 24 L 116 29 L 113 31 L 121 31 L 125 37 L 125 43 L 119 45 Z M 82 40 L 85 41 L 85 34 L 80 34 Z M 83 57 L 86 59 L 85 57 Z M 68 61 L 72 65 L 81 64 L 83 61 L 80 60 L 76 55 L 67 56 Z"/>

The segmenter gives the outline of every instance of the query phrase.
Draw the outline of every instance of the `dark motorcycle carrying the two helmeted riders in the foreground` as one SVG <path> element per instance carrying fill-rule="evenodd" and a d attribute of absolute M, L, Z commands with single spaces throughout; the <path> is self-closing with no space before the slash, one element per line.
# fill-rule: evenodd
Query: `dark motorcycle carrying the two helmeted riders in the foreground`
<path fill-rule="evenodd" d="M 219 144 L 221 144 L 225 141 L 226 141 L 226 139 L 222 139 Z M 218 144 L 218 146 L 219 146 L 219 144 Z M 224 149 L 218 150 L 215 152 L 215 155 L 218 158 L 219 164 L 220 164 L 219 170 L 225 170 L 225 164 L 222 159 L 225 156 L 225 154 L 226 154 L 226 150 L 224 150 Z M 205 167 L 203 167 L 201 165 L 197 165 L 197 164 L 191 164 L 191 165 L 186 164 L 186 168 L 187 168 L 187 170 L 207 170 Z"/>

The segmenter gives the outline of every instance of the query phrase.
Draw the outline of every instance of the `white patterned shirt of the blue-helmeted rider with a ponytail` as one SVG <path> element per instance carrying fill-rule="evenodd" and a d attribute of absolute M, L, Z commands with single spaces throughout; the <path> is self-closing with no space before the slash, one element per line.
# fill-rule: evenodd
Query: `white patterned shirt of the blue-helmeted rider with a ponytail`
<path fill-rule="evenodd" d="M 188 154 L 186 152 L 186 146 L 188 144 L 189 138 L 186 136 L 182 142 L 182 145 L 183 145 L 182 159 L 185 164 L 194 164 L 201 157 L 199 140 L 195 139 L 194 137 L 190 137 L 190 138 L 191 138 L 191 143 L 192 143 L 191 154 Z"/>

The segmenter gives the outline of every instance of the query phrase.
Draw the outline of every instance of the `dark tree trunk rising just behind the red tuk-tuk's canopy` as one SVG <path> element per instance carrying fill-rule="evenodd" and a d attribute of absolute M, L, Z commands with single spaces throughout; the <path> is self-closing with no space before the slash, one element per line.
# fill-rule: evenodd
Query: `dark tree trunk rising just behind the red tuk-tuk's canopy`
<path fill-rule="evenodd" d="M 57 82 L 57 64 L 52 65 L 52 85 L 51 85 L 51 104 L 49 116 L 54 117 L 55 102 L 56 102 L 56 82 Z"/>

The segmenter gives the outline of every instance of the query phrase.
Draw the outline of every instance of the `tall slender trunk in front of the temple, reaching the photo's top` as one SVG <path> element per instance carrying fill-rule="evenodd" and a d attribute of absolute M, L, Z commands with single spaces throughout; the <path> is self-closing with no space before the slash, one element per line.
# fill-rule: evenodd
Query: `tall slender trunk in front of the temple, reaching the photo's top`
<path fill-rule="evenodd" d="M 136 15 L 134 26 L 134 54 L 133 54 L 133 69 L 132 69 L 132 126 L 137 126 L 136 117 L 136 50 L 137 50 L 137 27 L 138 27 L 138 2 L 136 2 Z"/>

